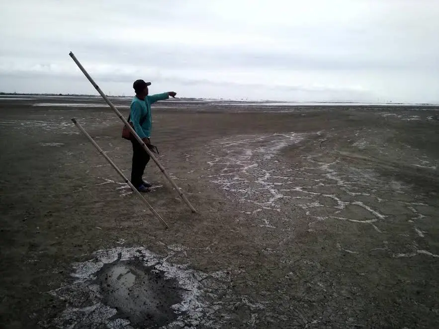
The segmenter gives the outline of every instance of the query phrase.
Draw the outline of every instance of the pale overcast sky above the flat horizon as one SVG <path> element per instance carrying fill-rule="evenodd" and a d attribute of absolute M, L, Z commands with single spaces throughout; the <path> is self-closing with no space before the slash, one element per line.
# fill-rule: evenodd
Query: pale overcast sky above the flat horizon
<path fill-rule="evenodd" d="M 439 0 L 14 0 L 0 91 L 439 102 Z"/>

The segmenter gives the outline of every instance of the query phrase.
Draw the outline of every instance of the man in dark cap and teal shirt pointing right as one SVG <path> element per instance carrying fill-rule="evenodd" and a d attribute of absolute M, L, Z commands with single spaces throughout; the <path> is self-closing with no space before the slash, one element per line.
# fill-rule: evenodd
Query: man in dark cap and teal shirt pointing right
<path fill-rule="evenodd" d="M 174 91 L 164 92 L 161 94 L 148 96 L 148 86 L 151 82 L 144 82 L 143 80 L 136 80 L 133 83 L 136 96 L 131 101 L 130 120 L 133 123 L 134 130 L 142 141 L 148 145 L 151 144 L 151 104 L 158 100 L 168 99 L 169 96 L 175 97 Z M 133 144 L 133 164 L 131 168 L 131 183 L 140 192 L 147 192 L 152 185 L 143 180 L 143 173 L 145 166 L 150 160 L 150 156 L 139 142 L 133 137 L 131 139 Z"/>

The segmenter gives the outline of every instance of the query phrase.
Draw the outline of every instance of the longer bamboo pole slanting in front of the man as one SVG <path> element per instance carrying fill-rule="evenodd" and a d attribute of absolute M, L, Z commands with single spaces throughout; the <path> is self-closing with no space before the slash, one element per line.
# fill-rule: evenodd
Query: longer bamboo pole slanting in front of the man
<path fill-rule="evenodd" d="M 148 147 L 146 146 L 146 144 L 142 141 L 142 139 L 139 137 L 139 135 L 137 135 L 136 131 L 131 127 L 131 125 L 128 123 L 128 121 L 125 120 L 125 118 L 122 116 L 122 114 L 120 114 L 120 112 L 118 111 L 118 109 L 113 105 L 113 103 L 111 103 L 111 101 L 108 99 L 108 97 L 102 92 L 102 90 L 100 90 L 99 86 L 96 84 L 96 82 L 93 81 L 93 79 L 91 79 L 91 77 L 89 76 L 89 74 L 87 73 L 86 69 L 84 69 L 84 67 L 81 65 L 81 63 L 78 61 L 78 59 L 75 57 L 75 55 L 70 52 L 70 57 L 72 57 L 72 59 L 74 60 L 74 62 L 76 63 L 76 65 L 78 65 L 78 67 L 80 68 L 80 70 L 84 73 L 84 75 L 87 77 L 88 81 L 91 82 L 91 84 L 94 86 L 94 88 L 97 90 L 97 92 L 102 96 L 102 98 L 105 100 L 105 102 L 111 107 L 111 109 L 116 113 L 116 115 L 119 117 L 120 120 L 122 120 L 122 122 L 125 124 L 125 126 L 130 130 L 130 132 L 133 134 L 133 136 L 136 138 L 136 140 L 140 143 L 140 145 L 142 145 L 142 147 L 144 148 L 144 150 L 148 153 L 148 155 L 151 157 L 151 159 L 153 159 L 153 161 L 156 163 L 156 165 L 160 168 L 160 170 L 162 171 L 162 173 L 165 175 L 165 177 L 169 180 L 169 182 L 174 186 L 174 188 L 176 189 L 176 191 L 178 192 L 178 194 L 180 195 L 181 199 L 183 199 L 183 201 L 187 204 L 187 206 L 190 208 L 190 210 L 193 213 L 196 213 L 195 208 L 192 206 L 192 204 L 189 202 L 189 200 L 187 200 L 186 196 L 183 194 L 183 192 L 180 190 L 180 188 L 176 185 L 176 183 L 174 182 L 174 180 L 172 180 L 172 178 L 170 177 L 170 175 L 168 174 L 168 172 L 166 172 L 164 166 L 157 160 L 157 158 L 154 156 L 154 154 L 150 151 L 150 149 L 148 149 Z"/>

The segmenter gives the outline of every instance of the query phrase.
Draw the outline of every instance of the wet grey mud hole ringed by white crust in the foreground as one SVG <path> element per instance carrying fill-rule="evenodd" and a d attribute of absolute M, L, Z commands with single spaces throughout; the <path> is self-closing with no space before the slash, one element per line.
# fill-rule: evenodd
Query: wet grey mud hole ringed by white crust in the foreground
<path fill-rule="evenodd" d="M 66 303 L 44 328 L 185 328 L 221 325 L 218 312 L 240 303 L 224 304 L 230 273 L 203 273 L 168 261 L 185 251 L 170 246 L 166 256 L 144 247 L 99 250 L 73 265 L 72 284 L 49 292 Z"/>

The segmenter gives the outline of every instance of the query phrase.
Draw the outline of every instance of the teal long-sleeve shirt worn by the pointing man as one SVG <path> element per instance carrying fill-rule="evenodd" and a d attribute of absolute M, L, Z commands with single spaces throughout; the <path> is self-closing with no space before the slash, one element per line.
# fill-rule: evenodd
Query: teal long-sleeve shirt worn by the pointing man
<path fill-rule="evenodd" d="M 137 98 L 137 96 L 133 98 L 133 100 L 131 101 L 130 121 L 133 123 L 134 130 L 140 138 L 151 137 L 151 129 L 153 126 L 153 120 L 151 117 L 151 104 L 154 104 L 158 100 L 168 98 L 168 92 L 146 96 L 145 100 Z M 140 120 L 143 117 L 145 117 L 145 120 L 142 124 L 140 124 Z"/>

